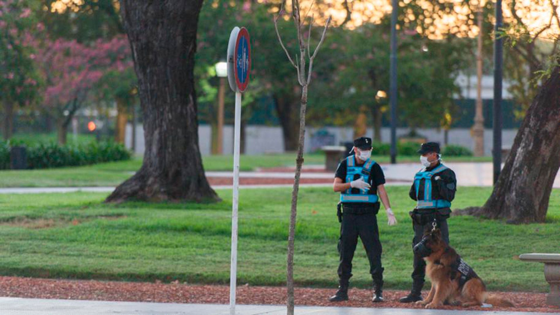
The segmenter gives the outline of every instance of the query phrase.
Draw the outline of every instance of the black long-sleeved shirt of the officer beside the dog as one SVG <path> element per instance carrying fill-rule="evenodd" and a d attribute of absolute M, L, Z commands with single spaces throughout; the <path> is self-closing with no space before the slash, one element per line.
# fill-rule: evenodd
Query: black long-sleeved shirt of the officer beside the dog
<path fill-rule="evenodd" d="M 437 163 L 433 167 L 426 168 L 429 172 L 437 166 L 440 166 L 441 163 Z M 440 177 L 441 179 L 436 180 L 436 177 Z M 432 176 L 432 199 L 444 199 L 449 202 L 453 201 L 455 198 L 455 192 L 457 191 L 457 179 L 455 178 L 455 172 L 451 169 L 446 169 L 440 173 L 437 173 Z M 424 200 L 424 180 L 420 182 L 420 187 L 418 190 L 418 198 L 416 197 L 416 187 L 414 187 L 415 183 L 412 183 L 412 187 L 410 187 L 409 196 L 413 200 Z M 440 209 L 441 210 L 449 210 L 449 208 Z"/>

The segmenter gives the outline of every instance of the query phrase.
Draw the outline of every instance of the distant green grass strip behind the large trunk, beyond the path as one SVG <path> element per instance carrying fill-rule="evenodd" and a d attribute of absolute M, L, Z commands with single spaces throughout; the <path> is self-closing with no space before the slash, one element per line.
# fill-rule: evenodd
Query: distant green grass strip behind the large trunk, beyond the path
<path fill-rule="evenodd" d="M 294 166 L 295 154 L 243 155 L 240 169 L 250 171 L 259 167 Z M 305 155 L 305 165 L 324 164 L 323 154 Z M 374 156 L 379 163 L 389 163 L 389 156 Z M 449 158 L 446 161 L 487 161 L 488 158 Z M 399 158 L 400 162 L 416 163 L 417 156 Z M 204 169 L 207 171 L 231 171 L 233 156 L 203 156 Z M 142 159 L 101 163 L 96 165 L 39 169 L 39 170 L 0 170 L 1 187 L 84 187 L 116 186 L 129 178 L 142 166 Z"/>

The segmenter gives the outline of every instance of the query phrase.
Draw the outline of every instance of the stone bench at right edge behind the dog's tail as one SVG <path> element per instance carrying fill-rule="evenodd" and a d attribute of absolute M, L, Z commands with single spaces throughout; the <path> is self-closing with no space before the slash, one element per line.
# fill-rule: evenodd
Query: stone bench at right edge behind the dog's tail
<path fill-rule="evenodd" d="M 519 260 L 544 263 L 544 279 L 550 285 L 547 304 L 560 306 L 560 254 L 521 254 Z"/>

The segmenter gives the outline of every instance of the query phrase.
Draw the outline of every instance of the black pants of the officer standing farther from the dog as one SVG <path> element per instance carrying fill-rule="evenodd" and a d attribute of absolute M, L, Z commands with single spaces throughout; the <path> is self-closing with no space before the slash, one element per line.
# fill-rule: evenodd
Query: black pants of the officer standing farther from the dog
<path fill-rule="evenodd" d="M 377 217 L 375 214 L 349 214 L 344 213 L 340 225 L 340 239 L 338 252 L 340 253 L 340 264 L 338 276 L 342 280 L 352 277 L 352 258 L 358 243 L 358 236 L 366 249 L 367 258 L 370 261 L 370 274 L 376 281 L 383 280 L 383 268 L 381 267 L 381 242 L 379 241 L 379 229 L 377 228 Z"/>

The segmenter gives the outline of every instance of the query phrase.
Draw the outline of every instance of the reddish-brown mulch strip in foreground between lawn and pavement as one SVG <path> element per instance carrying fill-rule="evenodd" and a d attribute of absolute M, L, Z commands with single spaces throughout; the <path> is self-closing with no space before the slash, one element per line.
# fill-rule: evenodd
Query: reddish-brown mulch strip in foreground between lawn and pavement
<path fill-rule="evenodd" d="M 330 303 L 327 298 L 335 289 L 296 288 L 296 304 L 346 307 L 421 308 L 419 305 L 398 303 L 407 292 L 384 292 L 385 302 L 370 302 L 371 290 L 351 289 L 350 300 Z M 424 295 L 426 292 L 424 292 Z M 518 311 L 560 313 L 560 308 L 546 305 L 544 293 L 500 293 L 514 302 L 516 308 L 442 307 L 482 311 Z M 44 299 L 109 300 L 166 303 L 229 303 L 229 286 L 162 284 L 151 282 L 119 282 L 95 280 L 55 280 L 23 277 L 0 277 L 0 296 Z M 286 289 L 271 286 L 242 285 L 237 288 L 239 304 L 284 304 Z"/>

